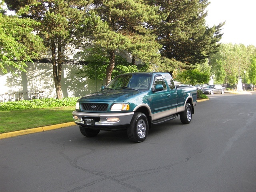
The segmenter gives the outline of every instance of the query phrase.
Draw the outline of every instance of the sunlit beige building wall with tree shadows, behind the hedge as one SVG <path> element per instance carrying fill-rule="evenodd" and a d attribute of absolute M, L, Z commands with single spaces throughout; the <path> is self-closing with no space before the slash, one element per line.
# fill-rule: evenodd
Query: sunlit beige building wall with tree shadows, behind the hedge
<path fill-rule="evenodd" d="M 15 93 L 18 98 L 23 92 L 25 100 L 32 99 L 32 92 L 42 92 L 42 98 L 56 98 L 52 64 L 28 63 L 27 72 L 16 70 L 14 74 L 0 72 L 0 102 L 10 101 Z M 62 92 L 64 97 L 81 97 L 100 90 L 102 83 L 79 74 L 82 65 L 62 64 Z M 8 93 L 8 94 L 7 94 Z M 8 95 L 8 98 L 7 98 Z M 39 95 L 38 95 L 39 96 Z"/>

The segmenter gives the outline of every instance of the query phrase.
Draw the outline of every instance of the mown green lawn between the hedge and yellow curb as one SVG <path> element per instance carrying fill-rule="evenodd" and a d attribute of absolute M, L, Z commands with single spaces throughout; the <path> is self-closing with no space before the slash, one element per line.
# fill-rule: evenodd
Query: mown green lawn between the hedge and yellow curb
<path fill-rule="evenodd" d="M 74 106 L 0 111 L 0 134 L 72 122 Z"/>

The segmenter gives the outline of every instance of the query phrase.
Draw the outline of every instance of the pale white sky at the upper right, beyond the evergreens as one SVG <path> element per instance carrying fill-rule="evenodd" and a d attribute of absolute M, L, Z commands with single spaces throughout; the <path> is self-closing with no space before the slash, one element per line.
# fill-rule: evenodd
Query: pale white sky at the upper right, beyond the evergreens
<path fill-rule="evenodd" d="M 209 27 L 226 21 L 222 43 L 256 46 L 256 0 L 209 0 L 206 8 Z"/>

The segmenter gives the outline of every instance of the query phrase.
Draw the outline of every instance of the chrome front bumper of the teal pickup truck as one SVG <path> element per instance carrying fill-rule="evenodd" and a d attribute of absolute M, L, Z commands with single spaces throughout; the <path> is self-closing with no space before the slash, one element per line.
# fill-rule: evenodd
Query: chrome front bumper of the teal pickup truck
<path fill-rule="evenodd" d="M 108 130 L 116 129 L 118 127 L 124 127 L 130 124 L 134 112 L 129 113 L 86 113 L 73 111 L 74 122 L 81 126 L 86 126 L 94 129 Z M 84 122 L 85 118 L 94 119 L 93 125 L 86 125 Z M 118 118 L 116 122 L 108 122 L 110 118 Z"/>

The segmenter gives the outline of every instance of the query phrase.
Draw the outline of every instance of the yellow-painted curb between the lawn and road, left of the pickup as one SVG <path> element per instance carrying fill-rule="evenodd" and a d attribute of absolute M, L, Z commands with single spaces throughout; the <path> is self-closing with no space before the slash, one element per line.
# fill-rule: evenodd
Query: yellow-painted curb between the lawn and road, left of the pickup
<path fill-rule="evenodd" d="M 21 135 L 26 135 L 26 134 L 32 134 L 32 133 L 38 133 L 38 132 L 44 132 L 44 131 L 64 128 L 64 127 L 74 126 L 74 125 L 76 125 L 74 122 L 68 122 L 68 123 L 62 123 L 62 124 L 57 124 L 57 125 L 49 125 L 49 126 L 44 126 L 44 127 L 2 133 L 2 134 L 0 134 L 0 140 L 5 139 L 5 138 L 10 138 L 10 137 L 16 137 L 16 136 L 21 136 Z"/>

